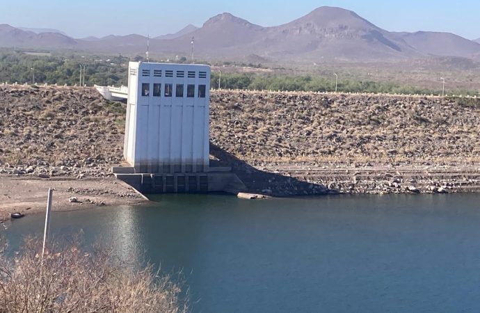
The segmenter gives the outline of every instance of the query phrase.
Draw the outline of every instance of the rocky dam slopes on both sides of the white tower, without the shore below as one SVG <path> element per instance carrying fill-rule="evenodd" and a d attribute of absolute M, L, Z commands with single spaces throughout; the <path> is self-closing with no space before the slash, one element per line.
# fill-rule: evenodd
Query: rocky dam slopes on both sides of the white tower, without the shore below
<path fill-rule="evenodd" d="M 0 104 L 3 163 L 121 160 L 125 110 L 94 88 L 0 87 Z M 480 106 L 439 98 L 214 92 L 211 142 L 253 163 L 480 162 Z"/>

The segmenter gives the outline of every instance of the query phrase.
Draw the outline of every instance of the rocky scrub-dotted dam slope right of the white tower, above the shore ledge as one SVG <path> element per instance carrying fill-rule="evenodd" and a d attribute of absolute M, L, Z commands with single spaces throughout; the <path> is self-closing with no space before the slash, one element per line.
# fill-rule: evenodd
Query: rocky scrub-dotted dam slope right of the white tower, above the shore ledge
<path fill-rule="evenodd" d="M 480 105 L 440 98 L 214 93 L 211 141 L 255 164 L 479 162 Z"/>

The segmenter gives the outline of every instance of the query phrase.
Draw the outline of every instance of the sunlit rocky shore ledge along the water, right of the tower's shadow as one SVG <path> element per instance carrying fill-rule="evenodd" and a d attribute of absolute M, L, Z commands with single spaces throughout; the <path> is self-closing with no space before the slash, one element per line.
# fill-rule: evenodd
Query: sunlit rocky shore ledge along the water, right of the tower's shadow
<path fill-rule="evenodd" d="M 320 189 L 319 194 L 480 192 L 480 163 L 462 166 L 370 163 L 362 166 L 315 166 L 311 163 L 277 163 L 264 164 L 257 168 L 262 172 L 272 172 L 282 177 L 291 177 L 298 182 L 307 182 L 310 184 L 307 188 L 323 186 L 323 192 L 321 187 L 317 187 Z"/>

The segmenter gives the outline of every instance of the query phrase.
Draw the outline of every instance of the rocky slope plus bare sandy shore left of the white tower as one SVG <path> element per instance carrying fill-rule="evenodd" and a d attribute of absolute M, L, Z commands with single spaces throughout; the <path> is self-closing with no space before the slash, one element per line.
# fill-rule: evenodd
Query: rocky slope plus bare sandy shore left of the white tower
<path fill-rule="evenodd" d="M 48 188 L 54 210 L 143 202 L 110 173 L 124 111 L 93 88 L 0 87 L 0 220 L 45 210 Z"/>

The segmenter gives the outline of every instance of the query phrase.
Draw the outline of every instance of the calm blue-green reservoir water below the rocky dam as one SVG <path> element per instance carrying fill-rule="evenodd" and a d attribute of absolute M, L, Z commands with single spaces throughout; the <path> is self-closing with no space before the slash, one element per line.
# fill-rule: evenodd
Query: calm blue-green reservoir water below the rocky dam
<path fill-rule="evenodd" d="M 480 312 L 480 195 L 155 200 L 54 212 L 51 231 L 182 270 L 192 312 Z M 13 220 L 10 248 L 43 222 Z"/>

